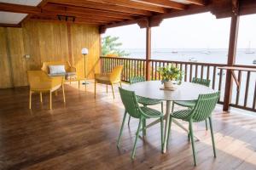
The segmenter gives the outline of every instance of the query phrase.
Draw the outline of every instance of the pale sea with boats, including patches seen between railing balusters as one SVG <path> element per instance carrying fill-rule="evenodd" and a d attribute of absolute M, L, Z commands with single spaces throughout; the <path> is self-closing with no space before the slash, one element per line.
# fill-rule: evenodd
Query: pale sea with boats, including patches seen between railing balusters
<path fill-rule="evenodd" d="M 125 49 L 130 55 L 129 58 L 134 59 L 145 59 L 145 49 Z M 247 49 L 238 49 L 236 51 L 236 64 L 237 65 L 253 65 L 253 60 L 256 60 L 256 49 L 250 49 L 251 54 L 247 54 Z M 228 59 L 228 49 L 152 49 L 151 59 L 162 59 L 162 60 L 173 60 L 173 61 L 189 61 L 193 59 L 196 62 L 202 63 L 217 63 L 217 64 L 226 64 Z M 204 72 L 206 72 L 206 69 Z M 195 71 L 195 69 L 194 69 Z M 195 76 L 195 73 L 193 73 Z M 210 79 L 212 80 L 213 70 L 210 70 Z M 236 77 L 238 71 L 235 71 Z M 198 69 L 198 75 L 201 75 L 201 69 Z M 224 100 L 224 85 L 225 85 L 225 71 L 221 83 L 221 96 L 220 100 Z M 253 107 L 253 97 L 254 97 L 254 88 L 256 82 L 256 72 L 251 72 L 249 79 L 249 88 L 247 96 L 247 106 Z M 244 105 L 245 93 L 246 93 L 246 84 L 247 84 L 247 72 L 241 71 L 241 89 L 240 89 L 240 98 L 239 105 Z M 217 74 L 215 89 L 218 89 L 219 85 L 219 75 Z M 212 86 L 212 85 L 211 85 Z M 236 83 L 233 83 L 233 94 L 232 102 L 236 103 Z M 255 115 L 255 112 L 253 112 Z"/>

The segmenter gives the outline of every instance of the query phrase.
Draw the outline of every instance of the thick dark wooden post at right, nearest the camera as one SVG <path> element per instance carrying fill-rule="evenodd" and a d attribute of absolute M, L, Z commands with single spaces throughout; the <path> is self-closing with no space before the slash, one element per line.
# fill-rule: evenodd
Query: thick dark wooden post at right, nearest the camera
<path fill-rule="evenodd" d="M 227 65 L 229 66 L 233 66 L 236 61 L 236 44 L 237 44 L 238 28 L 239 28 L 238 1 L 232 0 L 232 4 L 233 6 L 232 6 L 232 16 L 231 16 L 231 24 L 230 24 L 230 44 L 229 44 L 229 54 L 228 54 L 228 61 L 227 61 Z M 223 111 L 230 111 L 232 86 L 233 86 L 233 82 L 232 82 L 231 71 L 227 70 Z"/>

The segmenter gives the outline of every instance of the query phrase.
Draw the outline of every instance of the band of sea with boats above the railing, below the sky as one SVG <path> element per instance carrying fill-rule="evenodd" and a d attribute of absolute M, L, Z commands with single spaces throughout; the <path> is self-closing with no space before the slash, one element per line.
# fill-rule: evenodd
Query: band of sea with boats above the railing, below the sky
<path fill-rule="evenodd" d="M 145 49 L 125 49 L 129 58 L 144 59 Z M 256 49 L 250 49 L 254 54 L 247 54 L 247 49 L 238 49 L 236 52 L 237 65 L 253 65 L 256 59 Z M 152 49 L 151 59 L 163 59 L 174 61 L 189 61 L 195 59 L 197 62 L 225 64 L 228 59 L 228 49 Z M 256 65 L 255 65 L 256 66 Z"/>

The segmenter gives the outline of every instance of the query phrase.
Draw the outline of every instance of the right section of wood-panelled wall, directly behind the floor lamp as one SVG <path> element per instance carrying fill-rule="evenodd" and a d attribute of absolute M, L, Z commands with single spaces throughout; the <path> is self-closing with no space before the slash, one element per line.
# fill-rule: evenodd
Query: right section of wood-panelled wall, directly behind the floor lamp
<path fill-rule="evenodd" d="M 93 78 L 94 73 L 99 72 L 100 35 L 96 26 L 71 25 L 72 58 L 73 65 L 78 70 L 78 76 L 84 77 L 84 55 L 82 48 L 88 48 L 86 56 L 87 77 Z"/>

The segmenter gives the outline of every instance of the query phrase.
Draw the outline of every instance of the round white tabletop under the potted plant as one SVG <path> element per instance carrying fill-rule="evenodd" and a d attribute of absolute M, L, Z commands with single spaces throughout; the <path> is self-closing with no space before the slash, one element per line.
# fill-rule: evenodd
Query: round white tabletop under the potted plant
<path fill-rule="evenodd" d="M 177 85 L 177 89 L 174 91 L 161 90 L 160 88 L 163 88 L 163 84 L 160 81 L 137 82 L 125 87 L 127 90 L 134 91 L 138 96 L 168 101 L 195 100 L 199 94 L 211 94 L 214 92 L 212 88 L 192 82 L 182 82 L 181 85 Z"/>

